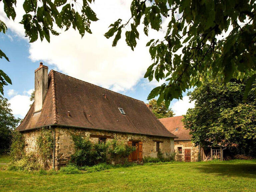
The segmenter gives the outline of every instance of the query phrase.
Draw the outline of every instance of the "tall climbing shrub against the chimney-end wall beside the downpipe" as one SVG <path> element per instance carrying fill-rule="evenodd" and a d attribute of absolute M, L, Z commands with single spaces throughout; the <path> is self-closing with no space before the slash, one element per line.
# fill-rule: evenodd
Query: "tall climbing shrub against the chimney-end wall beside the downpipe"
<path fill-rule="evenodd" d="M 52 131 L 47 128 L 41 128 L 36 139 L 36 150 L 43 169 L 46 168 L 47 161 L 52 157 L 53 152 L 53 136 Z"/>

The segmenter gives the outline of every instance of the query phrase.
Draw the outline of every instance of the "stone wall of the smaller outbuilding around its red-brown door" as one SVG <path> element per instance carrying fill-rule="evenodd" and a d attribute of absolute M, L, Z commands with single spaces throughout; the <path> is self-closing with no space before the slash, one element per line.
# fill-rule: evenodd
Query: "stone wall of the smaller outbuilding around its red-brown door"
<path fill-rule="evenodd" d="M 178 147 L 182 147 L 182 160 L 184 161 L 184 149 L 191 149 L 191 161 L 199 160 L 199 147 L 194 146 L 191 140 L 174 141 L 174 149 L 178 153 Z"/>

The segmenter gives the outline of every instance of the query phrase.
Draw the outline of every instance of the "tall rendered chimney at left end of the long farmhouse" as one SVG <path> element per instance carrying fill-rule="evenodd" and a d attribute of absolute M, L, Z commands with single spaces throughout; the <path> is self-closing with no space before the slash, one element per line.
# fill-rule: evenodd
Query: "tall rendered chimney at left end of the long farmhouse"
<path fill-rule="evenodd" d="M 48 67 L 40 62 L 39 68 L 35 70 L 35 111 L 41 111 L 48 89 Z"/>

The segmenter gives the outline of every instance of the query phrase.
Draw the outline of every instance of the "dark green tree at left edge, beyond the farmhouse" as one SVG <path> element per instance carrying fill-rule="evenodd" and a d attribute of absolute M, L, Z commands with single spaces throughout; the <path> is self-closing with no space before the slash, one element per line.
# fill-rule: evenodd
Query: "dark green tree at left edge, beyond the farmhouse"
<path fill-rule="evenodd" d="M 19 122 L 20 119 L 16 119 L 12 114 L 8 99 L 0 95 L 0 154 L 9 150 L 12 140 L 11 133 Z"/>

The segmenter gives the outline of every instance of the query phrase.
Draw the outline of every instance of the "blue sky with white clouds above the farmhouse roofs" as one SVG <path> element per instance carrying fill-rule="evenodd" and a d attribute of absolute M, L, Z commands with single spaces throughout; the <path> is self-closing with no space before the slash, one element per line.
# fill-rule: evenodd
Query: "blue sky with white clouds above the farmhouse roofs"
<path fill-rule="evenodd" d="M 92 5 L 99 21 L 91 24 L 93 34 L 85 34 L 83 38 L 78 31 L 70 29 L 62 31 L 59 36 L 51 36 L 51 42 L 40 40 L 29 43 L 24 37 L 24 29 L 19 21 L 22 15 L 22 1 L 17 2 L 15 21 L 6 18 L 3 3 L 0 2 L 0 20 L 7 24 L 6 35 L 0 33 L 1 49 L 9 57 L 10 62 L 0 60 L 0 68 L 12 79 L 13 85 L 5 86 L 5 97 L 9 99 L 11 109 L 16 117 L 23 118 L 31 101 L 30 94 L 34 88 L 34 70 L 39 62 L 49 67 L 49 71 L 65 73 L 78 79 L 125 94 L 147 103 L 150 91 L 163 82 L 144 79 L 147 67 L 152 63 L 146 43 L 152 38 L 163 38 L 162 31 L 150 31 L 145 36 L 143 28 L 139 29 L 140 39 L 134 51 L 122 38 L 116 47 L 112 47 L 113 39 L 106 39 L 103 34 L 108 26 L 118 18 L 124 21 L 130 18 L 130 0 L 97 0 Z M 168 21 L 163 23 L 167 26 Z M 177 115 L 183 115 L 193 107 L 184 93 L 183 100 L 173 100 L 170 107 Z"/>

